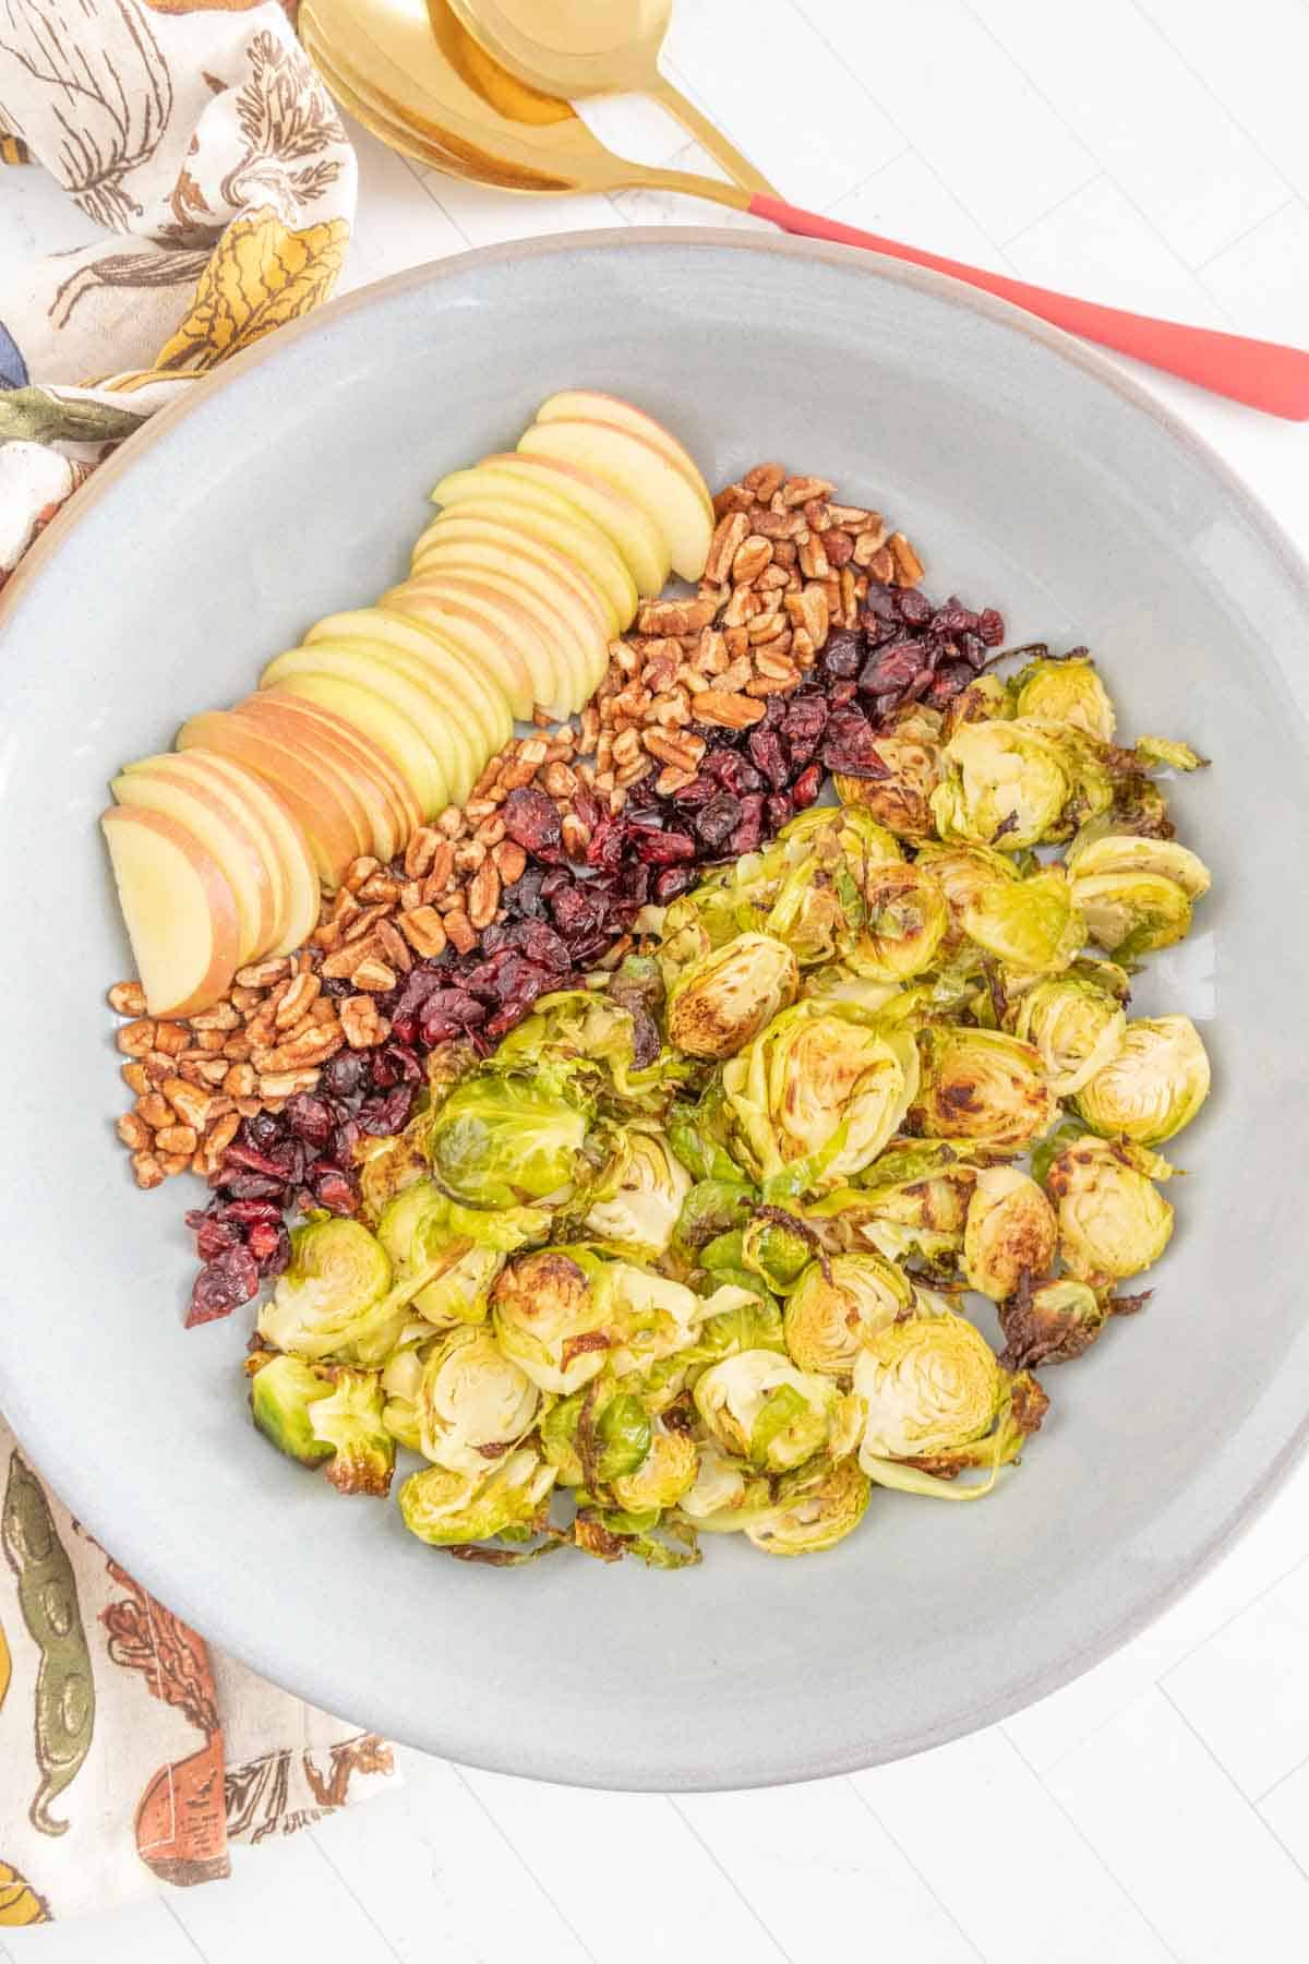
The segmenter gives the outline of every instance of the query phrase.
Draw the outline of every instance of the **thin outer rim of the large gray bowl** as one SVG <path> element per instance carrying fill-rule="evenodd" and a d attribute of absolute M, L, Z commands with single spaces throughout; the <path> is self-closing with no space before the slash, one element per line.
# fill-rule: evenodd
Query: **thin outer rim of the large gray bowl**
<path fill-rule="evenodd" d="M 290 346 L 292 340 L 316 334 L 324 324 L 341 320 L 347 312 L 365 310 L 383 295 L 404 293 L 420 287 L 438 287 L 447 279 L 459 279 L 469 263 L 498 265 L 510 259 L 542 259 L 573 251 L 593 253 L 597 249 L 640 251 L 644 246 L 705 246 L 730 251 L 811 259 L 844 269 L 860 267 L 869 279 L 887 279 L 916 289 L 936 300 L 942 300 L 946 306 L 981 314 L 1015 334 L 1026 336 L 1054 354 L 1060 361 L 1081 369 L 1136 412 L 1148 416 L 1174 444 L 1189 452 L 1189 456 L 1223 487 L 1246 524 L 1262 534 L 1270 554 L 1282 562 L 1291 587 L 1299 589 L 1305 617 L 1309 619 L 1309 556 L 1295 546 L 1289 532 L 1278 524 L 1244 479 L 1203 436 L 1199 436 L 1176 410 L 1168 409 L 1130 373 L 1119 367 L 1117 361 L 1101 355 L 1093 346 L 1079 342 L 1062 328 L 1054 328 L 1048 322 L 1038 320 L 1034 314 L 1028 314 L 1021 306 L 1013 306 L 1009 300 L 999 300 L 993 295 L 981 293 L 946 273 L 932 273 L 926 267 L 893 259 L 869 247 L 834 246 L 824 240 L 797 238 L 791 234 L 767 238 L 722 226 L 616 226 L 583 232 L 555 232 L 546 238 L 532 240 L 508 240 L 498 246 L 471 247 L 469 251 L 461 251 L 445 259 L 422 261 L 420 265 L 406 267 L 400 273 L 391 273 L 387 279 L 357 287 L 340 300 L 328 300 L 310 314 L 300 314 L 296 320 L 287 322 L 287 326 L 263 336 L 263 340 L 255 342 L 251 348 L 232 355 L 232 359 L 224 361 L 220 367 L 198 375 L 181 401 L 169 403 L 165 409 L 157 410 L 157 414 L 153 414 L 141 430 L 133 432 L 133 436 L 130 436 L 110 458 L 106 458 L 104 464 L 96 467 L 88 483 L 75 493 L 69 507 L 59 511 L 55 522 L 49 524 L 35 544 L 24 554 L 16 572 L 10 575 L 4 589 L 0 589 L 0 630 L 4 630 L 6 617 L 14 609 L 14 601 L 22 597 L 29 581 L 41 573 L 53 558 L 57 558 L 63 542 L 71 536 L 73 528 L 90 511 L 96 499 L 108 491 L 124 471 L 131 469 L 159 436 L 173 430 L 173 426 L 188 416 L 198 403 L 208 401 L 216 391 L 239 381 L 239 377 L 245 375 L 255 363 L 275 359 L 277 352 Z M 31 1424 L 27 1428 L 24 1426 L 26 1402 L 22 1377 L 18 1369 L 6 1367 L 4 1345 L 0 1345 L 0 1410 L 4 1410 L 4 1416 L 16 1436 L 33 1447 L 33 1459 L 39 1463 L 43 1477 L 49 1479 L 79 1522 L 82 1522 L 96 1536 L 96 1540 L 110 1546 L 116 1559 L 120 1559 L 141 1583 L 145 1583 L 145 1587 L 157 1595 L 159 1601 L 167 1603 L 186 1622 L 192 1622 L 194 1628 L 206 1636 L 206 1640 L 216 1642 L 222 1650 L 230 1652 L 261 1677 L 285 1689 L 296 1691 L 310 1703 L 322 1703 L 324 1693 L 316 1683 L 312 1658 L 296 1654 L 290 1664 L 290 1673 L 283 1675 L 287 1671 L 287 1660 L 281 1656 L 275 1642 L 267 1640 L 261 1630 L 245 1630 L 243 1626 L 232 1628 L 228 1624 L 222 1610 L 222 1589 L 214 1587 L 208 1597 L 198 1599 L 196 1591 L 184 1587 L 175 1589 L 169 1575 L 159 1573 L 151 1554 L 147 1522 L 126 1522 L 120 1532 L 112 1520 L 102 1518 L 100 1489 L 94 1469 L 77 1457 L 71 1444 L 65 1444 L 61 1430 L 53 1428 L 49 1434 L 43 1434 L 35 1412 L 31 1414 Z M 981 1695 L 975 1707 L 968 1713 L 964 1724 L 958 1720 L 956 1713 L 952 1720 L 944 1720 L 936 1728 L 924 1728 L 915 1740 L 911 1752 L 905 1756 L 911 1758 L 918 1752 L 930 1752 L 934 1746 L 944 1746 L 954 1738 L 968 1736 L 968 1732 L 997 1724 L 1001 1718 L 1009 1718 L 1013 1713 L 1024 1711 L 1038 1699 L 1048 1697 L 1052 1691 L 1060 1691 L 1075 1677 L 1081 1677 L 1083 1671 L 1103 1664 L 1105 1658 L 1111 1658 L 1126 1642 L 1150 1628 L 1152 1622 L 1156 1622 L 1168 1609 L 1172 1609 L 1174 1603 L 1187 1595 L 1187 1591 L 1193 1589 L 1195 1583 L 1207 1575 L 1244 1536 L 1250 1524 L 1285 1485 L 1291 1469 L 1305 1457 L 1307 1451 L 1309 1410 L 1295 1432 L 1252 1479 L 1246 1495 L 1229 1516 L 1225 1528 L 1203 1542 L 1199 1554 L 1189 1565 L 1162 1581 L 1156 1589 L 1144 1593 L 1128 1610 L 1125 1610 L 1121 1620 L 1103 1638 L 1070 1648 L 1058 1662 L 1050 1662 L 1040 1669 L 1034 1669 L 1026 1679 L 1022 1679 L 1022 1683 L 1015 1683 L 1007 1693 Z M 889 1756 L 879 1754 L 869 1744 L 862 1746 L 858 1740 L 852 1740 L 846 1750 L 826 1754 L 820 1762 L 807 1762 L 803 1768 L 791 1764 L 769 1766 L 763 1750 L 758 1768 L 750 1773 L 748 1781 L 738 1783 L 738 1787 L 789 1785 L 793 1781 L 856 1773 L 879 1764 L 879 1760 L 885 1758 Z M 524 1764 L 493 1744 L 487 1744 L 485 1752 L 481 1748 L 463 1750 L 461 1764 L 481 1768 L 491 1773 L 508 1773 L 559 1785 L 589 1785 L 612 1791 L 650 1789 L 650 1781 L 642 1781 L 640 1775 L 632 1777 L 632 1773 L 624 1768 L 614 1768 L 612 1773 L 608 1770 L 604 1773 L 597 1772 L 591 1779 L 583 1781 L 575 1773 L 551 1764 L 548 1756 L 532 1754 Z M 677 1791 L 714 1791 L 716 1785 L 720 1783 L 712 1777 L 693 1775 L 679 1781 Z"/>

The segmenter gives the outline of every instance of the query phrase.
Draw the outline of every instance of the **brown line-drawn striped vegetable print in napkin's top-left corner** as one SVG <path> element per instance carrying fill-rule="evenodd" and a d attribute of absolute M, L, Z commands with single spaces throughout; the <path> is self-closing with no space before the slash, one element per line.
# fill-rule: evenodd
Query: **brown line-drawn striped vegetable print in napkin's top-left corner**
<path fill-rule="evenodd" d="M 143 206 L 126 187 L 159 149 L 173 81 L 137 0 L 6 0 L 6 57 L 41 94 L 24 118 L 41 163 L 98 224 L 130 232 Z M 0 100 L 0 114 L 8 114 Z M 8 116 L 18 124 L 16 116 Z"/>

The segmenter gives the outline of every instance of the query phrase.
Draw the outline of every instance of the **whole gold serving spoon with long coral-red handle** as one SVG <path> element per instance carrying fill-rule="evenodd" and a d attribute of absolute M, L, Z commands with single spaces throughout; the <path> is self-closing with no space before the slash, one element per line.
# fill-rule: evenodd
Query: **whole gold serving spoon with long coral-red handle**
<path fill-rule="evenodd" d="M 302 0 L 306 45 L 385 143 L 453 177 L 504 191 L 654 189 L 754 212 L 783 232 L 860 246 L 1036 314 L 1070 334 L 1148 361 L 1274 416 L 1309 420 L 1309 354 L 1213 328 L 1099 306 L 1048 287 L 860 232 L 763 191 L 663 171 L 608 151 L 567 102 L 530 88 L 465 33 L 445 0 Z"/>

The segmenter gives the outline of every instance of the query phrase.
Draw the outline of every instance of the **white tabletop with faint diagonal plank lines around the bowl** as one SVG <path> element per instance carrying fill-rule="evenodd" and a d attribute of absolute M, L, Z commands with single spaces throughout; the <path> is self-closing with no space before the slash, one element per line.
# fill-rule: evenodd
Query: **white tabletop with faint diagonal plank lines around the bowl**
<path fill-rule="evenodd" d="M 1309 346 L 1309 0 L 677 0 L 667 65 L 797 202 Z M 708 167 L 644 104 L 593 120 L 632 155 Z M 648 192 L 479 191 L 355 137 L 351 285 L 522 234 L 722 222 Z M 6 177 L 0 257 L 86 236 L 37 173 Z M 1309 546 L 1309 428 L 1154 387 Z M 901 1766 L 673 1801 L 400 1764 L 400 1791 L 239 1856 L 228 1885 L 10 1933 L 0 1960 L 1305 1956 L 1309 1467 L 1146 1636 Z"/>

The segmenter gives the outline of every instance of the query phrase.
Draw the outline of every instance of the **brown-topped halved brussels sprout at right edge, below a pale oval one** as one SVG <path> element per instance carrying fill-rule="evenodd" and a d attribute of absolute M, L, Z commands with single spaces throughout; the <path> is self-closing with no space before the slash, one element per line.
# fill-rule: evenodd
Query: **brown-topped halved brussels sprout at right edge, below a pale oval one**
<path fill-rule="evenodd" d="M 1060 1224 L 1060 1251 L 1072 1273 L 1103 1288 L 1158 1261 L 1174 1231 L 1174 1210 L 1156 1190 L 1168 1163 L 1156 1153 L 1107 1139 L 1075 1139 L 1054 1159 L 1046 1192 Z"/>

